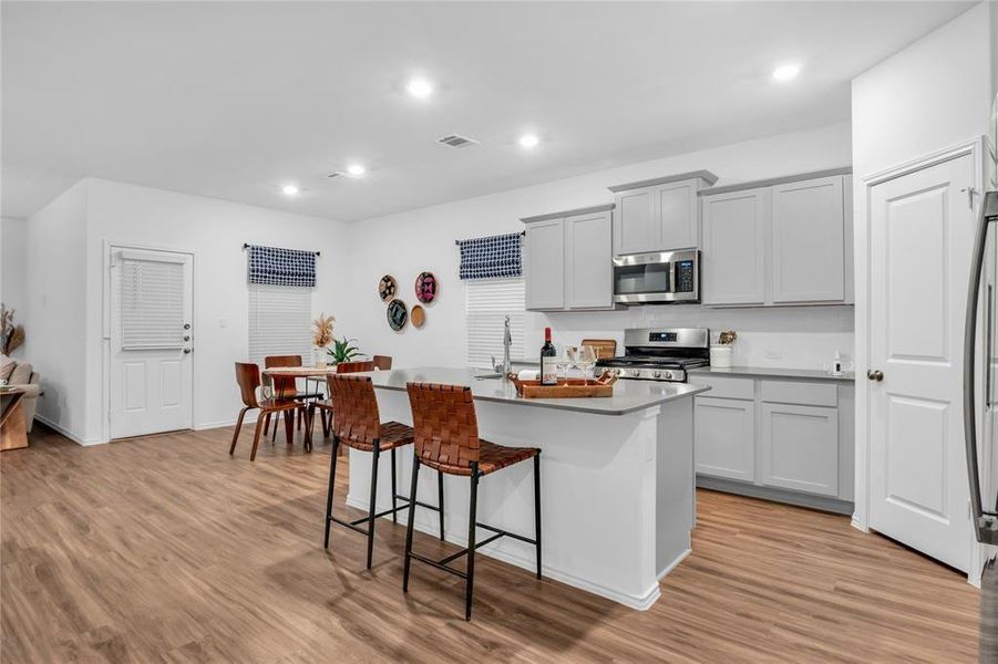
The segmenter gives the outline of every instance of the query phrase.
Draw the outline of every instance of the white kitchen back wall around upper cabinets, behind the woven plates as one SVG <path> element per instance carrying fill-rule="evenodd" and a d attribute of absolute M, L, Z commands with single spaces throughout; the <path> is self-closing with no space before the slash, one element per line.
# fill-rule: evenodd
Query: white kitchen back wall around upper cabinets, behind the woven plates
<path fill-rule="evenodd" d="M 719 176 L 718 185 L 726 185 L 850 163 L 850 126 L 840 123 L 358 221 L 350 225 L 357 298 L 341 331 L 357 336 L 368 353 L 394 355 L 400 366 L 459 366 L 464 362 L 466 338 L 455 239 L 519 231 L 522 217 L 611 203 L 613 194 L 606 187 L 621 183 L 704 168 Z M 378 298 L 378 280 L 393 274 L 401 298 L 411 305 L 415 302 L 413 280 L 422 270 L 438 276 L 440 297 L 426 308 L 421 330 L 410 325 L 393 332 Z M 851 355 L 853 347 L 852 307 L 711 310 L 659 305 L 528 318 L 527 351 L 532 354 L 534 346 L 541 346 L 542 328 L 548 324 L 556 341 L 563 342 L 587 335 L 620 341 L 623 330 L 631 326 L 729 326 L 740 333 L 734 362 L 752 365 L 821 367 L 836 350 Z"/>

